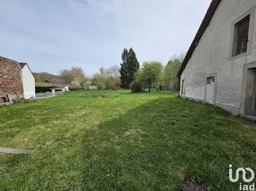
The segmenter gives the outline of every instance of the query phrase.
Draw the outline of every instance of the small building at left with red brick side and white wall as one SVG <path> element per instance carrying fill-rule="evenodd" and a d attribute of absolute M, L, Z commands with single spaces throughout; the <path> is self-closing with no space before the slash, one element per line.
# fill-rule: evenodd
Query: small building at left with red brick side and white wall
<path fill-rule="evenodd" d="M 6 94 L 12 99 L 35 97 L 34 76 L 27 63 L 0 57 L 0 97 Z"/>

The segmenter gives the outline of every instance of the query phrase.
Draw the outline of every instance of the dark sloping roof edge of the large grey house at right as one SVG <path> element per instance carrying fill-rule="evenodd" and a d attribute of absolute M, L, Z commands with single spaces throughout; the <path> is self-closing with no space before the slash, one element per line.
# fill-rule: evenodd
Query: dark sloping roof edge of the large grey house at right
<path fill-rule="evenodd" d="M 216 11 L 217 7 L 219 6 L 219 2 L 221 0 L 212 0 L 210 7 L 208 8 L 206 12 L 206 16 L 203 18 L 203 22 L 201 23 L 197 34 L 195 35 L 195 38 L 192 42 L 192 44 L 189 47 L 189 51 L 187 52 L 187 55 L 184 58 L 183 63 L 181 64 L 181 68 L 178 70 L 177 77 L 180 77 L 182 74 L 182 71 L 184 71 L 185 67 L 187 66 L 187 63 L 189 61 L 189 58 L 191 58 L 195 47 L 197 47 L 198 42 L 200 41 L 200 38 L 203 36 L 204 31 L 206 31 L 207 26 L 210 24 L 211 17 L 213 17 L 214 12 Z"/>

